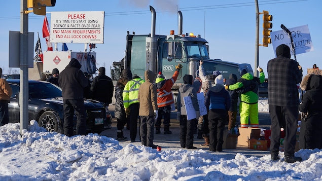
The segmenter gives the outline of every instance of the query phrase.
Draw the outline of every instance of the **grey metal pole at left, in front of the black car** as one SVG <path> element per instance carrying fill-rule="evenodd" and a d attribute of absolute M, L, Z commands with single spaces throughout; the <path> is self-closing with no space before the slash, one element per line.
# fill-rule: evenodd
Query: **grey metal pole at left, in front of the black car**
<path fill-rule="evenodd" d="M 20 0 L 20 134 L 23 129 L 28 130 L 28 14 L 24 12 L 28 10 L 27 0 Z"/>

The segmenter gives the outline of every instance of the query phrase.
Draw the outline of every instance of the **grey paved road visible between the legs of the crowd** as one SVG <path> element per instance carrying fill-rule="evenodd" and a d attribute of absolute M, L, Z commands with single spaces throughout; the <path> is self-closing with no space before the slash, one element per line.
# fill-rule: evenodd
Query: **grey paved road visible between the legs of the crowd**
<path fill-rule="evenodd" d="M 110 105 L 110 111 L 112 112 L 112 115 L 114 115 L 114 107 Z M 172 134 L 163 134 L 163 128 L 161 128 L 161 134 L 154 134 L 154 144 L 157 144 L 162 147 L 162 150 L 180 150 L 180 141 L 179 141 L 179 123 L 175 119 L 176 117 L 176 112 L 171 113 L 171 127 L 170 130 L 172 131 Z M 239 117 L 237 118 L 239 120 Z M 259 114 L 259 121 L 260 121 L 260 127 L 269 129 L 270 126 L 270 118 L 268 113 L 260 113 Z M 108 136 L 108 137 L 113 137 L 116 138 L 117 135 L 117 128 L 116 128 L 116 119 L 113 118 L 112 122 L 112 129 L 105 130 L 100 133 L 100 135 Z M 239 125 L 239 121 L 237 122 Z M 227 125 L 226 125 L 227 127 Z M 122 141 L 120 142 L 120 145 L 122 147 L 125 147 L 127 144 L 134 144 L 135 146 L 140 146 L 140 142 L 134 142 L 131 143 L 129 140 L 130 137 L 130 131 L 124 129 L 124 136 L 128 138 L 128 141 Z M 136 139 L 139 140 L 138 134 L 136 136 Z M 194 146 L 197 147 L 198 149 L 202 149 L 206 152 L 209 152 L 209 148 L 201 147 L 200 144 L 204 143 L 203 139 L 198 139 L 197 134 L 194 136 Z M 257 156 L 257 157 L 263 157 L 265 155 L 269 155 L 269 151 L 257 151 L 257 150 L 251 150 L 248 149 L 247 147 L 244 146 L 239 146 L 237 145 L 237 149 L 231 149 L 231 150 L 224 150 L 221 153 L 218 152 L 209 152 L 211 154 L 217 155 L 219 157 L 224 157 L 225 159 L 233 159 L 235 158 L 237 153 L 242 153 L 246 157 L 251 157 L 251 156 Z M 222 156 L 221 156 L 222 155 Z"/>

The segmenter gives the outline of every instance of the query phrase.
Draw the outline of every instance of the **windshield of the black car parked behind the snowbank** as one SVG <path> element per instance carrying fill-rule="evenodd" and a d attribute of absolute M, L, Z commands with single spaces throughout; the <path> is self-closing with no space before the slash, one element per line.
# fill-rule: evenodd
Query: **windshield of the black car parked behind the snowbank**
<path fill-rule="evenodd" d="M 38 99 L 61 97 L 61 89 L 50 83 L 35 82 L 29 83 L 29 94 Z"/>

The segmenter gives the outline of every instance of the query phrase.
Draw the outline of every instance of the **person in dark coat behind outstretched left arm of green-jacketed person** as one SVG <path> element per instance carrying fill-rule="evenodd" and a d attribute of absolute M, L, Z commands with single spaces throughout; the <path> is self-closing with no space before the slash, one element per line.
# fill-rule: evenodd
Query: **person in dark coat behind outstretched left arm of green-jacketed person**
<path fill-rule="evenodd" d="M 230 86 L 237 83 L 237 75 L 236 74 L 230 74 L 229 79 L 226 80 L 226 85 Z M 230 108 L 228 111 L 228 130 L 235 127 L 236 124 L 236 117 L 237 117 L 237 102 L 238 102 L 238 92 L 236 90 L 227 90 L 230 95 Z"/>

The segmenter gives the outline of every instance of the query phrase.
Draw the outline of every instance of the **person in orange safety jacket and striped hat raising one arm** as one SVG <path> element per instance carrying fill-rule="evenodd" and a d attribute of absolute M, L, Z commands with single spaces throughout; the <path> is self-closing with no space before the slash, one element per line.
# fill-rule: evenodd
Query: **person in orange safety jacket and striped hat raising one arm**
<path fill-rule="evenodd" d="M 172 75 L 171 79 L 164 80 L 164 76 L 162 75 L 161 71 L 157 75 L 157 79 L 155 81 L 157 86 L 157 93 L 158 93 L 158 118 L 155 123 L 156 134 L 160 134 L 160 127 L 161 127 L 161 120 L 163 115 L 163 126 L 164 126 L 164 134 L 171 134 L 170 131 L 170 113 L 171 113 L 171 104 L 174 103 L 171 88 L 175 83 L 179 71 L 182 68 L 182 64 L 178 64 L 175 66 L 175 71 Z"/>

